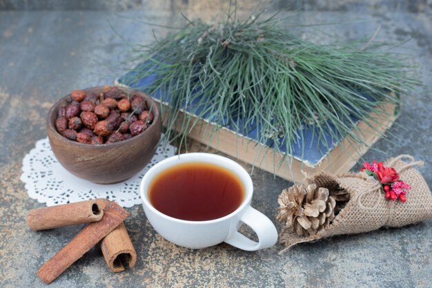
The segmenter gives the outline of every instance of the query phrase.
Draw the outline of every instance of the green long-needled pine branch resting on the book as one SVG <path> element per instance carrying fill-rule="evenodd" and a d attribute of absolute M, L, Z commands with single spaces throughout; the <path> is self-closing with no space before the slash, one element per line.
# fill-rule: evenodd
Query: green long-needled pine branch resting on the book
<path fill-rule="evenodd" d="M 288 155 L 305 125 L 317 127 L 315 137 L 324 146 L 328 134 L 362 144 L 362 137 L 353 132 L 356 122 L 351 116 L 374 127 L 380 119 L 368 115 L 378 104 L 399 104 L 399 97 L 391 94 L 407 94 L 418 84 L 407 76 L 411 67 L 404 57 L 379 52 L 382 44 L 369 41 L 372 44 L 368 42 L 366 48 L 359 42 L 313 44 L 282 29 L 276 15 L 262 19 L 259 14 L 240 21 L 235 12 L 236 8 L 230 10 L 222 22 L 188 19 L 187 26 L 165 39 L 134 47 L 141 61 L 152 61 L 155 66 L 126 84 L 157 75 L 146 91 L 152 95 L 163 90 L 170 96 L 170 108 L 161 108 L 168 116 L 168 127 L 176 123 L 180 109 L 199 101 L 201 111 L 189 107 L 198 118 L 210 113 L 215 124 L 224 126 L 228 121 L 242 135 L 247 134 L 248 124 L 258 125 L 262 133 L 254 140 L 273 140 L 275 148 L 284 145 Z M 161 102 L 166 99 L 162 97 Z M 243 125 L 237 124 L 238 119 L 243 119 Z M 186 134 L 196 124 L 192 117 L 185 117 L 180 133 L 167 131 L 166 136 L 185 144 Z M 215 135 L 217 128 L 202 129 Z M 291 157 L 286 159 L 291 163 Z"/>

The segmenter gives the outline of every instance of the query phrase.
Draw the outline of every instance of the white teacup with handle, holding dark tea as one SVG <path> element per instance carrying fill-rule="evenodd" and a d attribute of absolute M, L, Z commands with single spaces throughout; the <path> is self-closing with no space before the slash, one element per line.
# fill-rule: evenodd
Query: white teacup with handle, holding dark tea
<path fill-rule="evenodd" d="M 181 220 L 159 212 L 148 199 L 150 183 L 165 169 L 188 162 L 204 162 L 222 166 L 233 172 L 242 181 L 244 199 L 232 213 L 222 218 L 206 221 Z M 239 249 L 255 251 L 273 246 L 277 241 L 277 231 L 273 222 L 263 213 L 251 207 L 253 184 L 251 177 L 242 166 L 226 157 L 210 153 L 187 153 L 169 157 L 153 166 L 141 181 L 141 199 L 144 212 L 153 228 L 166 240 L 182 247 L 202 249 L 222 242 Z M 247 224 L 255 231 L 258 242 L 246 238 L 237 229 Z"/>

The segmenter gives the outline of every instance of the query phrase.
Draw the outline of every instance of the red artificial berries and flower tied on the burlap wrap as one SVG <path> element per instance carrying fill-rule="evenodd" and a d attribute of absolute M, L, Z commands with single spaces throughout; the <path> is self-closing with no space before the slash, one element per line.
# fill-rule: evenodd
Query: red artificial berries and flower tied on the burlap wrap
<path fill-rule="evenodd" d="M 387 199 L 393 201 L 399 199 L 401 202 L 406 201 L 406 190 L 411 189 L 411 185 L 399 180 L 399 174 L 394 168 L 386 167 L 382 162 L 373 161 L 372 164 L 364 162 L 360 171 L 364 171 L 366 174 L 374 177 L 375 180 L 381 182 L 382 190 Z"/>

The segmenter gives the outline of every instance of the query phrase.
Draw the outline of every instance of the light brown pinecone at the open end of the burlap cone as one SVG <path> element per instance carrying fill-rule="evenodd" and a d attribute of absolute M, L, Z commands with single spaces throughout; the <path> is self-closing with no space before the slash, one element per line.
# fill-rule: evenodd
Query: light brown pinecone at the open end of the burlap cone
<path fill-rule="evenodd" d="M 295 184 L 279 195 L 276 219 L 298 236 L 312 236 L 335 218 L 336 201 L 328 194 L 328 189 L 315 184 Z"/>

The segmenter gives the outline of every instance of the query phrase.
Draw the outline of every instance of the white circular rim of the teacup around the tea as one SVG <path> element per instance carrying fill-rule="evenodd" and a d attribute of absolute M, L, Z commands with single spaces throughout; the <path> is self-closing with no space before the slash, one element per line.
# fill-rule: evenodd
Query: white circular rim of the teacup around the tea
<path fill-rule="evenodd" d="M 183 160 L 185 158 L 186 158 L 186 160 Z M 144 191 L 146 188 L 145 186 L 148 186 L 151 183 L 152 178 L 158 174 L 157 173 L 155 175 L 152 175 L 152 173 L 154 173 L 153 171 L 159 169 L 159 167 L 161 167 L 161 166 L 165 166 L 165 165 L 169 164 L 170 162 L 173 162 L 173 164 L 170 164 L 166 168 L 175 166 L 176 165 L 175 161 L 184 161 L 184 162 L 179 162 L 177 164 L 188 163 L 188 162 L 202 162 L 202 163 L 215 164 L 217 166 L 222 166 L 224 168 L 227 168 L 226 166 L 217 164 L 215 162 L 206 161 L 209 158 L 213 159 L 213 160 L 220 160 L 222 162 L 227 163 L 227 165 L 232 165 L 233 168 L 235 169 L 235 171 L 233 171 L 233 173 L 235 173 L 235 175 L 237 175 L 237 177 L 239 177 L 239 179 L 244 184 L 244 194 L 245 194 L 244 199 L 242 201 L 242 204 L 240 204 L 239 207 L 237 207 L 237 209 L 235 209 L 233 212 L 229 213 L 228 215 L 224 215 L 221 218 L 216 218 L 216 219 L 212 219 L 212 220 L 204 220 L 204 221 L 194 221 L 194 220 L 183 220 L 183 219 L 171 217 L 169 215 L 161 213 L 159 210 L 157 210 L 155 207 L 153 207 L 153 204 L 150 203 L 150 200 L 148 200 L 147 194 Z M 139 185 L 139 193 L 141 195 L 141 201 L 144 203 L 144 205 L 147 207 L 147 209 L 150 209 L 153 213 L 155 213 L 155 214 L 157 214 L 163 218 L 166 218 L 168 220 L 171 220 L 171 221 L 177 222 L 177 223 L 204 225 L 204 224 L 212 224 L 212 223 L 216 223 L 216 222 L 222 222 L 228 218 L 232 218 L 234 215 L 236 215 L 237 213 L 239 213 L 243 209 L 250 206 L 251 200 L 252 200 L 252 195 L 253 195 L 253 183 L 252 183 L 252 179 L 251 179 L 251 176 L 249 175 L 249 173 L 240 164 L 238 164 L 237 162 L 235 162 L 233 160 L 230 160 L 228 157 L 224 157 L 222 155 L 216 155 L 216 154 L 212 154 L 212 153 L 194 152 L 194 153 L 183 153 L 183 154 L 179 154 L 179 155 L 174 155 L 174 156 L 168 157 L 168 158 L 162 160 L 161 162 L 155 164 L 155 166 L 151 167 L 146 172 L 144 177 L 142 178 L 141 184 Z"/>

